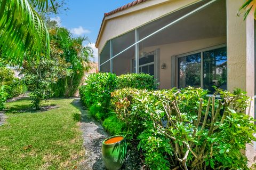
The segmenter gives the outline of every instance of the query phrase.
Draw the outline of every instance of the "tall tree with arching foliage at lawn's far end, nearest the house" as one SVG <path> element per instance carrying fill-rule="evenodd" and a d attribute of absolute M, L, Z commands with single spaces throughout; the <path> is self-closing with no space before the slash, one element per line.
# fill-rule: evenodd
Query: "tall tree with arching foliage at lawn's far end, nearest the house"
<path fill-rule="evenodd" d="M 51 44 L 63 51 L 60 57 L 69 63 L 69 68 L 73 70 L 73 74 L 63 77 L 58 80 L 57 84 L 53 84 L 55 97 L 69 97 L 76 93 L 81 80 L 84 77 L 84 72 L 91 69 L 90 57 L 92 49 L 89 46 L 84 46 L 83 43 L 88 41 L 87 37 L 76 37 L 66 28 L 55 27 L 49 30 Z"/>

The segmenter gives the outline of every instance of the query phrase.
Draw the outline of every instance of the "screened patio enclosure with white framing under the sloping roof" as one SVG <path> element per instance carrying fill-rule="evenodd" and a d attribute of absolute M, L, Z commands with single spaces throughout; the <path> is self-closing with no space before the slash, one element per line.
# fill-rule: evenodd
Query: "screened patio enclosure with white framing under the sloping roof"
<path fill-rule="evenodd" d="M 99 69 L 153 75 L 159 88 L 227 89 L 226 1 L 200 1 L 110 39 Z"/>

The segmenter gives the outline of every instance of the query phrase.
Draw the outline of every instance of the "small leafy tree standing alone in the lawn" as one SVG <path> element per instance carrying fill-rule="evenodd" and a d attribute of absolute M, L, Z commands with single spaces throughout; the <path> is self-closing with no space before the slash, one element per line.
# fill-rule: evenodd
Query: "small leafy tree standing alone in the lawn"
<path fill-rule="evenodd" d="M 71 71 L 66 69 L 67 67 L 67 63 L 60 58 L 41 58 L 39 62 L 32 60 L 23 63 L 22 72 L 25 75 L 25 82 L 33 90 L 30 98 L 36 110 L 40 109 L 42 100 L 52 97 L 51 85 L 59 78 L 71 74 Z"/>

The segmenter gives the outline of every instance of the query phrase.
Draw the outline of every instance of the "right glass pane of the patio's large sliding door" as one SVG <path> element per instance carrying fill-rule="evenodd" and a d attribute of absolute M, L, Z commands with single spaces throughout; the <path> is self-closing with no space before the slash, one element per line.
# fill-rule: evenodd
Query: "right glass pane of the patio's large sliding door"
<path fill-rule="evenodd" d="M 227 47 L 203 53 L 203 88 L 214 91 L 212 86 L 227 90 Z"/>

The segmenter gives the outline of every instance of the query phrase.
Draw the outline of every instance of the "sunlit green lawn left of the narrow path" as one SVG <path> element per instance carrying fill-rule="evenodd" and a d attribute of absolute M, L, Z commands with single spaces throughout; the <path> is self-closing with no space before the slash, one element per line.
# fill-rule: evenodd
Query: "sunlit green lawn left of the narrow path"
<path fill-rule="evenodd" d="M 30 109 L 30 100 L 6 103 L 0 126 L 0 169 L 75 169 L 84 157 L 81 111 L 75 99 L 44 103 L 47 111 Z M 58 108 L 56 108 L 58 107 Z"/>

